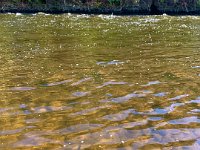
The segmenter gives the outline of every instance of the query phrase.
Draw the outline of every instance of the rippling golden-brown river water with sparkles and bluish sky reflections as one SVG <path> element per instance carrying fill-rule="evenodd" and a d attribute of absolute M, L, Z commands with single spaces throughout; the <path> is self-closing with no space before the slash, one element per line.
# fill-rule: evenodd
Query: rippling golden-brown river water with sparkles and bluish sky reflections
<path fill-rule="evenodd" d="M 0 15 L 0 149 L 200 149 L 200 17 Z"/>

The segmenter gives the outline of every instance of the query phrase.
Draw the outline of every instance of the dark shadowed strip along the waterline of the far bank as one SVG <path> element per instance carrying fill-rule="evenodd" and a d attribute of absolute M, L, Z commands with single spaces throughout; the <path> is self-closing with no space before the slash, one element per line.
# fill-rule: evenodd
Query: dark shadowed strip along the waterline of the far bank
<path fill-rule="evenodd" d="M 69 10 L 55 10 L 55 9 L 1 9 L 0 13 L 22 13 L 22 14 L 34 14 L 34 13 L 48 13 L 48 14 L 103 14 L 103 15 L 200 15 L 200 11 L 159 11 L 156 13 L 152 13 L 148 10 L 131 10 L 131 9 L 123 9 L 123 10 L 115 10 L 115 9 L 69 9 Z"/>

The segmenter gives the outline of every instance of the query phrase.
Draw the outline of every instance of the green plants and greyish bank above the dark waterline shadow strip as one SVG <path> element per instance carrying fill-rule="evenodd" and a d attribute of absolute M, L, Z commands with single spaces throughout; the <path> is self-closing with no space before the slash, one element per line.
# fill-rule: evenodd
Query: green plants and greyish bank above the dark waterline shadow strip
<path fill-rule="evenodd" d="M 114 10 L 149 11 L 152 4 L 158 10 L 173 12 L 200 11 L 200 0 L 1 0 L 3 10 Z"/>

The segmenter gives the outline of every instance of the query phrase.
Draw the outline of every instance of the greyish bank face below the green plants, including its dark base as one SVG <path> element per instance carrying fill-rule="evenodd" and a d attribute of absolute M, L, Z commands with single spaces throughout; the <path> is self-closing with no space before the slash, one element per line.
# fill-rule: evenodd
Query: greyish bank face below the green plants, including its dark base
<path fill-rule="evenodd" d="M 196 5 L 183 6 L 182 4 L 171 4 L 165 6 L 163 3 L 146 3 L 132 5 L 47 5 L 47 4 L 12 4 L 0 3 L 0 13 L 38 13 L 49 14 L 76 13 L 76 14 L 113 14 L 113 15 L 200 15 L 200 8 Z"/>

